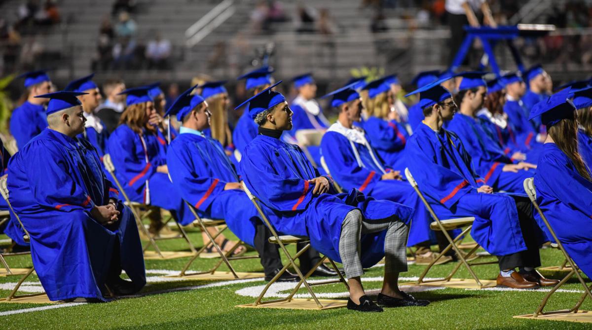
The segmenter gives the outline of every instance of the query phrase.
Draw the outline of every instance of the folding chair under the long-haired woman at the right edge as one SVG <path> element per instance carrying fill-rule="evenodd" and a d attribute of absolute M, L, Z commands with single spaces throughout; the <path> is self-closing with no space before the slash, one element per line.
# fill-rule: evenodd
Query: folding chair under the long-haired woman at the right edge
<path fill-rule="evenodd" d="M 549 229 L 549 232 L 551 232 L 551 236 L 553 237 L 553 240 L 556 242 L 557 248 L 563 253 L 563 255 L 565 256 L 565 260 L 567 260 L 567 263 L 570 264 L 571 267 L 570 273 L 568 273 L 559 283 L 557 283 L 556 286 L 553 287 L 553 289 L 551 289 L 551 291 L 549 291 L 549 293 L 545 295 L 542 302 L 540 302 L 538 308 L 536 308 L 535 312 L 532 314 L 532 317 L 536 318 L 540 315 L 577 313 L 582 303 L 584 303 L 586 296 L 592 299 L 592 293 L 590 292 L 592 286 L 588 287 L 588 284 L 586 284 L 584 278 L 580 274 L 580 268 L 578 268 L 578 266 L 574 263 L 574 260 L 572 260 L 567 251 L 565 251 L 565 248 L 563 247 L 561 241 L 558 240 L 557 235 L 553 230 L 553 227 L 551 227 L 551 224 L 549 224 L 549 221 L 547 220 L 545 214 L 543 214 L 543 211 L 540 209 L 539 204 L 536 202 L 535 182 L 532 177 L 529 177 L 524 180 L 524 190 L 526 192 L 526 195 L 528 195 L 528 197 L 530 198 L 530 202 L 532 202 L 532 205 L 535 206 L 536 211 L 539 212 L 540 218 L 543 219 L 543 222 L 545 222 L 545 226 L 547 227 L 547 229 Z M 545 305 L 547 304 L 549 297 L 551 297 L 551 295 L 553 295 L 553 293 L 555 293 L 555 291 L 559 289 L 559 287 L 565 284 L 574 275 L 578 278 L 578 281 L 580 281 L 580 283 L 584 287 L 584 294 L 580 297 L 580 300 L 578 300 L 575 306 L 571 309 L 555 310 L 553 312 L 543 312 L 543 308 L 545 308 Z"/>

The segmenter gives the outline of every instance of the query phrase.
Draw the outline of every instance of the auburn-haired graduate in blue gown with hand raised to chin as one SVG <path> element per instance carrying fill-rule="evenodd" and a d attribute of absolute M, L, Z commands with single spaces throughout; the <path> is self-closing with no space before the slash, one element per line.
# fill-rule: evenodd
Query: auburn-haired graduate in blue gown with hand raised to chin
<path fill-rule="evenodd" d="M 166 141 L 159 135 L 162 117 L 154 109 L 149 88 L 124 90 L 127 109 L 120 125 L 111 133 L 108 151 L 115 176 L 133 202 L 167 209 L 181 225 L 195 219 L 176 193 L 166 166 Z"/>

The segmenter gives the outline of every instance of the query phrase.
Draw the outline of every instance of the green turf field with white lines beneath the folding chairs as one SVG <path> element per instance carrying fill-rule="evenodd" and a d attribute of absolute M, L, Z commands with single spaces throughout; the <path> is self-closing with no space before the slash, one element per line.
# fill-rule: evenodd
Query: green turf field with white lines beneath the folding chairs
<path fill-rule="evenodd" d="M 201 244 L 201 235 L 192 229 L 192 241 Z M 5 238 L 5 237 L 0 237 Z M 183 250 L 181 240 L 160 242 L 165 250 Z M 254 253 L 254 252 L 249 252 Z M 559 251 L 541 250 L 543 266 L 556 266 L 561 263 Z M 492 257 L 489 257 L 492 258 Z M 562 321 L 531 321 L 513 319 L 514 315 L 532 313 L 545 291 L 502 291 L 435 289 L 413 293 L 420 299 L 432 303 L 426 308 L 387 309 L 384 313 L 359 313 L 345 308 L 330 310 L 280 310 L 236 308 L 236 305 L 255 300 L 250 295 L 260 292 L 255 286 L 265 284 L 263 280 L 246 283 L 177 281 L 162 282 L 164 271 L 150 273 L 150 270 L 179 271 L 187 258 L 175 260 L 146 260 L 149 270 L 149 284 L 138 297 L 118 299 L 110 303 L 63 304 L 60 308 L 47 310 L 27 310 L 54 304 L 0 303 L 0 320 L 8 329 L 580 329 L 591 328 L 591 323 L 572 323 Z M 11 267 L 30 267 L 30 256 L 9 257 Z M 192 267 L 204 270 L 215 263 L 212 259 L 199 259 Z M 236 261 L 238 271 L 262 271 L 258 259 Z M 436 266 L 430 277 L 444 276 L 452 264 Z M 222 267 L 221 270 L 226 270 Z M 419 276 L 423 266 L 411 264 L 403 277 Z M 157 274 L 158 273 L 158 274 Z M 497 266 L 477 267 L 483 279 L 494 279 Z M 561 278 L 561 274 L 549 274 Z M 377 295 L 381 287 L 382 268 L 371 268 L 365 276 L 365 288 Z M 455 276 L 468 278 L 466 270 Z M 0 295 L 6 296 L 20 276 L 0 277 Z M 12 284 L 10 284 L 12 283 Z M 208 285 L 210 284 L 210 285 Z M 249 289 L 253 287 L 253 289 Z M 243 290 L 241 290 L 243 289 Z M 414 288 L 411 288 L 413 291 Z M 421 288 L 420 288 L 421 289 Z M 555 293 L 548 310 L 571 307 L 583 292 L 580 284 L 572 279 L 562 287 L 564 291 Z M 241 290 L 241 291 L 239 291 Z M 314 287 L 316 293 L 343 293 L 342 284 Z M 406 290 L 403 288 L 403 290 Z M 40 284 L 31 276 L 25 282 L 21 293 L 39 292 Z M 248 292 L 247 292 L 248 291 Z M 289 291 L 282 291 L 287 293 Z M 305 293 L 305 290 L 301 290 Z M 590 299 L 582 309 L 592 309 Z M 12 314 L 8 315 L 7 312 Z"/>

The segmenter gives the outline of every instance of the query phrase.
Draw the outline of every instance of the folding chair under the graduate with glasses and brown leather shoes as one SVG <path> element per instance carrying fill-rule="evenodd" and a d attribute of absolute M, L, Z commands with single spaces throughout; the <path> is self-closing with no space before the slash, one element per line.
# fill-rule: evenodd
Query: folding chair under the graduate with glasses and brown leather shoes
<path fill-rule="evenodd" d="M 471 258 L 471 256 L 477 251 L 477 249 L 480 246 L 478 244 L 476 244 L 475 247 L 471 248 L 471 250 L 466 254 L 464 253 L 464 251 L 461 252 L 461 249 L 458 247 L 459 241 L 461 241 L 462 238 L 471 231 L 471 228 L 472 228 L 473 222 L 475 221 L 475 218 L 472 216 L 469 216 L 469 217 L 465 217 L 465 218 L 454 218 L 454 219 L 440 220 L 440 218 L 438 218 L 438 216 L 436 215 L 436 213 L 432 209 L 432 206 L 430 206 L 430 204 L 427 202 L 426 198 L 423 196 L 423 193 L 419 189 L 419 186 L 417 186 L 417 182 L 415 179 L 413 179 L 413 176 L 411 175 L 411 172 L 409 171 L 408 168 L 405 169 L 405 176 L 407 177 L 407 181 L 411 184 L 411 186 L 413 187 L 413 189 L 415 190 L 415 192 L 417 193 L 419 198 L 422 200 L 423 204 L 426 206 L 427 211 L 429 211 L 430 215 L 432 215 L 432 218 L 435 219 L 435 221 L 433 221 L 430 224 L 430 229 L 432 229 L 434 231 L 441 231 L 442 234 L 446 237 L 446 240 L 448 240 L 448 242 L 449 242 L 448 246 L 437 256 L 437 258 L 435 260 L 433 260 L 432 263 L 430 263 L 426 267 L 426 269 L 422 273 L 422 276 L 420 276 L 419 279 L 417 280 L 416 284 L 419 285 L 419 284 L 434 283 L 434 282 L 438 282 L 438 283 L 450 282 L 452 279 L 452 276 L 454 276 L 456 271 L 458 271 L 459 268 L 464 265 L 466 267 L 466 270 L 469 271 L 469 274 L 471 274 L 471 277 L 475 280 L 475 283 L 477 283 L 477 286 L 480 289 L 482 289 L 484 287 L 491 286 L 490 284 L 484 284 L 483 281 L 480 280 L 479 277 L 477 277 L 475 272 L 472 270 L 471 266 L 485 265 L 485 264 L 497 264 L 497 262 L 496 261 L 486 261 L 486 262 L 480 262 L 480 263 L 469 263 L 467 261 L 467 259 Z M 461 232 L 461 234 L 456 236 L 454 239 L 452 239 L 452 237 L 448 234 L 448 231 L 451 231 L 453 229 L 461 229 L 461 228 L 465 228 L 465 229 Z M 434 266 L 434 264 L 436 264 L 437 261 L 440 260 L 440 258 L 443 255 L 445 255 L 448 251 L 450 251 L 451 248 L 452 248 L 452 250 L 455 251 L 456 256 L 458 257 L 459 261 L 458 261 L 458 263 L 456 263 L 456 266 L 452 269 L 452 271 L 448 274 L 448 276 L 446 276 L 444 279 L 424 280 L 424 277 L 426 277 L 427 272 L 430 270 L 430 268 L 432 268 L 432 266 Z"/>

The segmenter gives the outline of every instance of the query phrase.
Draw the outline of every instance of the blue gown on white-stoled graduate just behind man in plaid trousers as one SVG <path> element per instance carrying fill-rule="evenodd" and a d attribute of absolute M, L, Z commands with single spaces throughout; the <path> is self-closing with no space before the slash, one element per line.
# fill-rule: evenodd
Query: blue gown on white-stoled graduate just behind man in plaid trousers
<path fill-rule="evenodd" d="M 361 164 L 356 160 L 352 144 Z M 407 246 L 430 240 L 432 218 L 426 207 L 407 181 L 381 180 L 382 174 L 390 169 L 377 156 L 374 148 L 350 142 L 339 132 L 329 130 L 321 140 L 321 151 L 331 176 L 343 188 L 355 188 L 373 198 L 391 200 L 414 209 Z"/>

